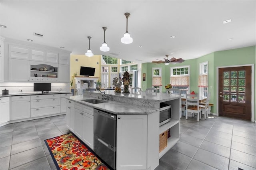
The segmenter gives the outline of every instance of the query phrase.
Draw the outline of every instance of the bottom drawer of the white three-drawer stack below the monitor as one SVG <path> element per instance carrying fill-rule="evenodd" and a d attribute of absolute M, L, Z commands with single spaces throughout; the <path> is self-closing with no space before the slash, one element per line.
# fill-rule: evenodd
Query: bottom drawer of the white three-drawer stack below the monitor
<path fill-rule="evenodd" d="M 38 117 L 38 116 L 60 113 L 60 106 L 31 109 L 30 113 L 31 113 L 31 117 Z"/>

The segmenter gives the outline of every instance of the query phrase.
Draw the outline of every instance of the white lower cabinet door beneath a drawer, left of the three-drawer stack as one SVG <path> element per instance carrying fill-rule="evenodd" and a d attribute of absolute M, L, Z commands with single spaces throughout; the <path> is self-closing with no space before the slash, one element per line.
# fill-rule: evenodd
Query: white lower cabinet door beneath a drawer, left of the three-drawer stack
<path fill-rule="evenodd" d="M 30 118 L 30 100 L 12 101 L 11 120 Z"/>

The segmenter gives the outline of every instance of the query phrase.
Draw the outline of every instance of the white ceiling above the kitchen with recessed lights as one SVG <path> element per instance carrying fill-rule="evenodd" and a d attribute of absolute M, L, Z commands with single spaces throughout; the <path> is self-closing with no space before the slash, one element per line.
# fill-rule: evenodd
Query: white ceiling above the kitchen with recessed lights
<path fill-rule="evenodd" d="M 125 12 L 131 44 L 120 41 Z M 63 46 L 72 54 L 84 55 L 91 36 L 95 55 L 145 63 L 173 53 L 186 60 L 256 45 L 256 0 L 0 0 L 0 24 L 7 26 L 0 36 Z M 108 52 L 100 51 L 103 26 Z"/>

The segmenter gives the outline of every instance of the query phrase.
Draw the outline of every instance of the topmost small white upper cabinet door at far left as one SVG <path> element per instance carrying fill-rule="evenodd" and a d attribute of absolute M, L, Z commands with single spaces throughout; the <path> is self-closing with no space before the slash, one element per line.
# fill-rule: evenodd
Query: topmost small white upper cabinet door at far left
<path fill-rule="evenodd" d="M 30 48 L 9 44 L 9 58 L 30 60 Z"/>

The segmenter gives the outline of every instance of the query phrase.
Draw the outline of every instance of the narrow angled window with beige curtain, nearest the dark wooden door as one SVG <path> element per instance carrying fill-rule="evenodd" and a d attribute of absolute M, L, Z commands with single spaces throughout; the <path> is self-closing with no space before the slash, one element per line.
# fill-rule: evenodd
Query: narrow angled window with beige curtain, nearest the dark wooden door
<path fill-rule="evenodd" d="M 199 96 L 207 97 L 208 94 L 208 61 L 200 63 L 198 76 Z"/>

